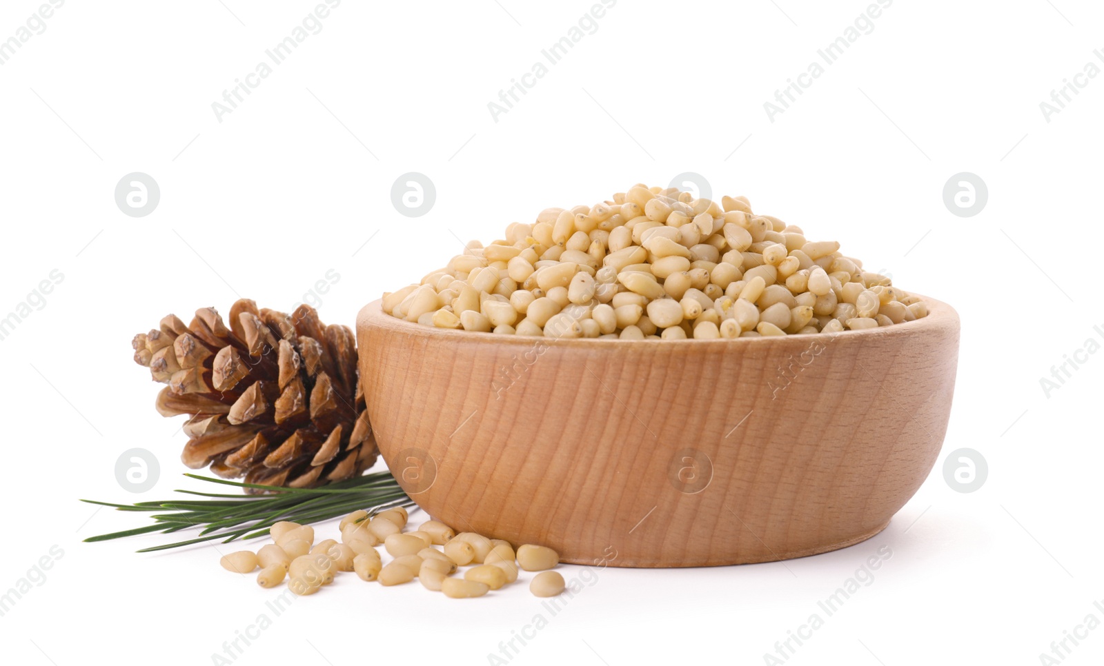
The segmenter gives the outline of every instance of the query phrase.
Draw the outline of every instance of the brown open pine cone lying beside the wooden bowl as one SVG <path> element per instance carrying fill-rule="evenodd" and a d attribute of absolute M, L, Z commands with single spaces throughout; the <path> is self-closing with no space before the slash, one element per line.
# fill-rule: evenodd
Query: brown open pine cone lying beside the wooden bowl
<path fill-rule="evenodd" d="M 174 314 L 134 339 L 135 361 L 155 382 L 162 416 L 189 416 L 181 460 L 225 479 L 312 487 L 360 475 L 378 452 L 348 326 L 318 321 L 310 305 L 289 316 L 242 299 L 230 329 L 214 308 L 188 326 Z"/>

